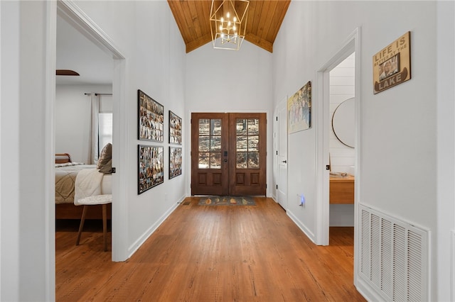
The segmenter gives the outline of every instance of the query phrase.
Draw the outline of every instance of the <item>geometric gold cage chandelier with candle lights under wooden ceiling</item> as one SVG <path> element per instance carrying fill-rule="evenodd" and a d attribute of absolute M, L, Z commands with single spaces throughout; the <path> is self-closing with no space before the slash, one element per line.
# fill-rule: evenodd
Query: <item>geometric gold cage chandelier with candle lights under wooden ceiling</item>
<path fill-rule="evenodd" d="M 247 0 L 212 0 L 210 30 L 213 48 L 239 50 L 247 28 Z"/>

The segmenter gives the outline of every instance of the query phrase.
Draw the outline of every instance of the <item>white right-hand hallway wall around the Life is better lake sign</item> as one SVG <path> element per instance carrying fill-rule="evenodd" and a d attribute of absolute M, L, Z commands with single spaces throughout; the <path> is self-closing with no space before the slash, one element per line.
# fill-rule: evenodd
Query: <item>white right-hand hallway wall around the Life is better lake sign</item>
<path fill-rule="evenodd" d="M 358 203 L 433 234 L 438 221 L 437 76 L 450 75 L 453 79 L 452 72 L 437 74 L 437 29 L 441 30 L 439 38 L 449 39 L 451 47 L 454 36 L 453 26 L 437 28 L 438 5 L 431 1 L 402 1 L 394 2 L 390 9 L 382 1 L 292 1 L 274 43 L 273 57 L 276 101 L 306 81 L 315 81 L 316 71 L 361 26 L 360 62 L 356 62 L 360 64 L 362 122 Z M 453 9 L 448 14 L 453 18 Z M 373 94 L 373 55 L 408 30 L 412 35 L 412 79 Z M 320 100 L 321 96 L 316 96 L 314 102 Z M 450 114 L 453 116 L 453 111 Z M 313 240 L 317 216 L 314 179 L 316 169 L 324 168 L 314 164 L 315 133 L 316 129 L 311 128 L 289 135 L 288 160 L 289 196 L 304 191 L 307 197 L 306 207 L 290 202 L 288 212 Z M 453 219 L 451 222 L 453 228 Z M 430 300 L 437 301 L 438 279 L 449 276 L 436 275 L 436 246 L 431 245 L 429 252 Z M 446 255 L 449 262 L 447 258 Z M 442 291 L 446 293 L 449 288 Z"/>

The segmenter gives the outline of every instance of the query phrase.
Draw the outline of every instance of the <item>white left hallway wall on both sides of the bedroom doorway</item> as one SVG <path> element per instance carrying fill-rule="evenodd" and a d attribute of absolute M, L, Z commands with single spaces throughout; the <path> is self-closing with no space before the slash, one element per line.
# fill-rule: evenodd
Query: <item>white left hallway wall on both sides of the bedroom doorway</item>
<path fill-rule="evenodd" d="M 145 91 L 185 121 L 185 46 L 166 1 L 77 1 L 76 6 L 126 57 L 121 112 L 126 144 L 118 167 L 127 196 L 118 198 L 124 220 L 119 255 L 129 257 L 185 196 L 185 174 L 137 195 L 137 145 L 163 145 L 167 172 L 168 143 L 137 140 L 137 89 Z M 53 1 L 1 1 L 1 301 L 51 301 L 55 295 L 52 196 L 53 112 L 45 94 L 46 50 L 55 52 Z M 54 11 L 47 11 L 54 6 Z M 55 24 L 55 23 L 54 23 Z M 55 28 L 54 28 L 55 29 Z M 49 40 L 46 40 L 46 37 Z M 54 57 L 48 58 L 55 62 Z M 52 82 L 50 80 L 50 82 Z M 53 83 L 55 87 L 55 83 Z M 114 91 L 114 89 L 113 89 Z M 117 104 L 118 105 L 118 104 Z M 118 106 L 117 106 L 118 107 Z M 122 107 L 123 108 L 123 107 Z M 164 137 L 168 137 L 167 115 Z M 46 130 L 49 129 L 49 130 Z M 183 135 L 188 135 L 183 129 Z M 50 147 L 52 145 L 52 147 Z M 185 147 L 185 145 L 183 145 Z M 185 150 L 185 149 L 184 149 Z M 46 160 L 43 160 L 46 159 Z M 186 153 L 183 152 L 183 161 Z M 167 174 L 166 174 L 167 175 Z M 118 181 L 117 181 L 118 183 Z M 50 190 L 51 191 L 51 190 Z M 114 198 L 115 200 L 115 198 Z M 117 204 L 117 207 L 120 206 Z M 51 213 L 51 212 L 49 212 Z M 46 220 L 48 218 L 48 220 Z M 118 221 L 113 221 L 114 224 Z M 114 237 L 114 236 L 113 236 Z M 114 254 L 114 252 L 113 252 Z"/>

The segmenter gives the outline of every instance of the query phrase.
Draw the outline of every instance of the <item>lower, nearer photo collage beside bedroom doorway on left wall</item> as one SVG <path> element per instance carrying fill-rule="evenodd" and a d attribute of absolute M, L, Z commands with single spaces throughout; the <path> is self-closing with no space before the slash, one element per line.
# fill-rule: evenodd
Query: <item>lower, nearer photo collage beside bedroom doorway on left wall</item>
<path fill-rule="evenodd" d="M 164 182 L 163 147 L 138 145 L 137 194 Z"/>

